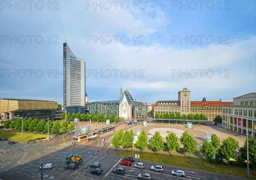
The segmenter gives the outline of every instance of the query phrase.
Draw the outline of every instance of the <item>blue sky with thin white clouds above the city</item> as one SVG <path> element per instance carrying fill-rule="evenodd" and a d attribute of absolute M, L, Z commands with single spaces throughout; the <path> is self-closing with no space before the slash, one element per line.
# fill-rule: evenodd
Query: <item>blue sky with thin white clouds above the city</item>
<path fill-rule="evenodd" d="M 63 101 L 63 43 L 89 102 L 256 92 L 255 0 L 0 1 L 0 98 Z"/>

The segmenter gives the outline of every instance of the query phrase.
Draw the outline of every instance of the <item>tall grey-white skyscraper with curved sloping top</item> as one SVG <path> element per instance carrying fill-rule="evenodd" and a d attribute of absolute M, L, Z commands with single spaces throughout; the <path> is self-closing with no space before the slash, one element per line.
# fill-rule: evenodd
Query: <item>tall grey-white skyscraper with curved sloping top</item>
<path fill-rule="evenodd" d="M 85 62 L 63 43 L 63 106 L 85 105 Z"/>

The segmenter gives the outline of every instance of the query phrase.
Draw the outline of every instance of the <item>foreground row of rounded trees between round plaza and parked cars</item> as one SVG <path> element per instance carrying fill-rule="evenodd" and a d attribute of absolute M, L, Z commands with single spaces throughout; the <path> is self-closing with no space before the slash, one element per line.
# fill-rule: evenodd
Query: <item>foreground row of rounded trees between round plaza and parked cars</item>
<path fill-rule="evenodd" d="M 124 148 L 130 148 L 133 145 L 133 131 L 125 131 L 121 129 L 118 133 L 114 134 L 113 139 L 111 141 L 112 145 L 115 148 L 118 148 L 120 145 L 122 145 Z M 179 139 L 176 136 L 175 133 L 170 132 L 166 136 L 166 149 L 168 151 L 179 151 L 180 144 Z M 197 142 L 193 137 L 185 131 L 182 136 L 180 137 L 180 142 L 183 144 L 183 149 L 185 152 L 189 153 L 195 153 L 197 150 L 196 145 Z M 249 159 L 253 162 L 253 164 L 256 164 L 256 139 L 253 139 L 252 137 L 249 137 Z M 160 136 L 160 132 L 156 131 L 153 138 L 151 139 L 151 148 L 154 151 L 161 151 L 163 150 L 164 144 L 163 144 L 163 138 Z M 141 151 L 143 151 L 148 146 L 148 136 L 146 135 L 145 131 L 143 130 L 140 135 L 138 136 L 138 140 L 136 141 L 136 146 L 140 148 Z M 222 141 L 222 145 L 220 146 L 220 139 L 216 134 L 212 135 L 211 142 L 208 142 L 207 140 L 204 141 L 201 151 L 203 154 L 208 157 L 212 158 L 216 154 L 216 149 L 218 150 L 218 154 L 223 157 L 226 160 L 230 160 L 231 158 L 237 159 L 236 155 L 236 149 L 239 147 L 239 142 L 232 138 L 228 137 L 224 141 Z M 246 160 L 247 157 L 247 146 L 246 142 L 244 143 L 244 147 L 240 148 L 241 152 L 241 159 Z"/>

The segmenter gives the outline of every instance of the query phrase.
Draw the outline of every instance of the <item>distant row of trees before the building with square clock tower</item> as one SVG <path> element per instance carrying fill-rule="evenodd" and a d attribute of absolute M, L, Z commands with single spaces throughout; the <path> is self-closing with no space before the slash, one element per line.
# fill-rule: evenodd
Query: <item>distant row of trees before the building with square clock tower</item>
<path fill-rule="evenodd" d="M 176 116 L 175 116 L 175 113 L 172 112 L 171 114 L 169 113 L 160 113 L 160 115 L 158 113 L 155 114 L 155 119 L 191 119 L 191 120 L 207 120 L 206 116 L 201 113 L 201 114 L 198 114 L 196 113 L 195 115 L 194 114 L 183 114 L 181 116 L 180 112 L 177 112 Z"/>

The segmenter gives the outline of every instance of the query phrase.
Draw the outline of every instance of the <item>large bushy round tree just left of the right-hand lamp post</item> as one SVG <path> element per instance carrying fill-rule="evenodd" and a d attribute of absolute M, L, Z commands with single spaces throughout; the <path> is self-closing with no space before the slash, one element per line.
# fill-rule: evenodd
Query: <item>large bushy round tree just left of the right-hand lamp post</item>
<path fill-rule="evenodd" d="M 233 137 L 228 137 L 227 139 L 222 141 L 222 145 L 218 149 L 218 154 L 220 154 L 220 156 L 227 161 L 230 160 L 230 158 L 236 159 L 236 148 L 238 147 L 239 142 Z"/>

